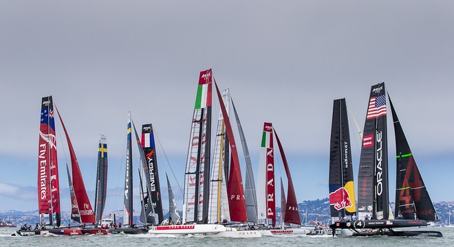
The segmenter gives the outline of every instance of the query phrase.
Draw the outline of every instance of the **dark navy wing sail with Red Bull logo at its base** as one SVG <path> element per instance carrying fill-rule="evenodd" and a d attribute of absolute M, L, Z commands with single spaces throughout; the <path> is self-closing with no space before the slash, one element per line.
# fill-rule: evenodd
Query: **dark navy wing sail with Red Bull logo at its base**
<path fill-rule="evenodd" d="M 352 149 L 345 99 L 335 99 L 329 148 L 329 209 L 331 222 L 356 213 Z"/>

